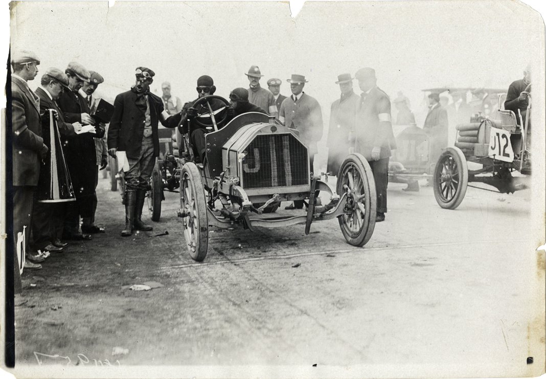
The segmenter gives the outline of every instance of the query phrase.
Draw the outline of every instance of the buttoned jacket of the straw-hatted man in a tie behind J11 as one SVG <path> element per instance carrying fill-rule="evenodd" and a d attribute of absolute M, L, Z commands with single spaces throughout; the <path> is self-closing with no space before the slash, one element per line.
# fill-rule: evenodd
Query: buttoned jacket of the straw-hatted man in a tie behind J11
<path fill-rule="evenodd" d="M 279 120 L 288 128 L 297 129 L 301 140 L 309 147 L 309 154 L 318 152 L 317 142 L 322 138 L 322 110 L 318 101 L 302 92 L 294 103 L 292 97 L 286 98 L 278 113 Z"/>

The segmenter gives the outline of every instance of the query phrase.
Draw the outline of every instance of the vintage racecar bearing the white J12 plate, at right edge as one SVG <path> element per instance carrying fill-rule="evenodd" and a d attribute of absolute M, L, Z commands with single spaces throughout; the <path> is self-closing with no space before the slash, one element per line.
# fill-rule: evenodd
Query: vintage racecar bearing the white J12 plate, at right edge
<path fill-rule="evenodd" d="M 527 148 L 530 109 L 525 122 L 518 125 L 513 111 L 504 110 L 502 94 L 498 96 L 496 118 L 477 117 L 471 123 L 457 125 L 454 147 L 445 149 L 434 171 L 434 195 L 442 208 L 455 209 L 465 197 L 469 182 L 495 187 L 501 193 L 527 188 L 531 161 Z M 481 165 L 473 170 L 467 163 Z M 523 176 L 513 176 L 519 172 Z M 476 187 L 479 188 L 479 187 Z"/>

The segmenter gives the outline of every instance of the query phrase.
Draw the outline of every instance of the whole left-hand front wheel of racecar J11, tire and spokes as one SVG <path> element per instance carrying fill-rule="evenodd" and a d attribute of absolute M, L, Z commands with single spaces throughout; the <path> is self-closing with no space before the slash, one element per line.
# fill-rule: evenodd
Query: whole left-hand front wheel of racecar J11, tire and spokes
<path fill-rule="evenodd" d="M 182 231 L 189 256 L 197 262 L 205 259 L 209 248 L 209 221 L 206 208 L 201 174 L 194 163 L 188 162 L 180 173 L 180 209 L 186 214 L 182 218 Z"/>

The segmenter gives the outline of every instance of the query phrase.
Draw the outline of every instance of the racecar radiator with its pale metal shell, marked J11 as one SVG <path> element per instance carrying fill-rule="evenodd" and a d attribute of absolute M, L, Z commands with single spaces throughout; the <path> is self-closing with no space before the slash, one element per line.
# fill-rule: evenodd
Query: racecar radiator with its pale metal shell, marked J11
<path fill-rule="evenodd" d="M 263 123 L 242 129 L 245 128 L 242 133 L 236 133 L 224 148 L 227 147 L 225 153 L 229 151 L 225 155 L 227 166 L 233 167 L 236 161 L 241 187 L 248 195 L 309 190 L 307 147 L 293 131 Z"/>

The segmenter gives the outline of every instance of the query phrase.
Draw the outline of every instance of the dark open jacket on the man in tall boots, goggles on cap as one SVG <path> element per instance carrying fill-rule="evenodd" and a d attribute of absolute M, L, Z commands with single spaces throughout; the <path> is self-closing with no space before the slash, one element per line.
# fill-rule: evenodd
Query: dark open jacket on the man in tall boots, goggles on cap
<path fill-rule="evenodd" d="M 124 151 L 128 158 L 138 159 L 144 136 L 145 111 L 141 110 L 135 100 L 138 94 L 133 91 L 120 93 L 114 100 L 114 114 L 108 128 L 108 149 L 116 148 Z M 159 115 L 163 112 L 163 100 L 148 94 L 150 104 L 150 122 L 152 127 L 153 155 L 159 156 L 159 136 L 157 125 Z M 181 113 L 170 116 L 162 125 L 166 128 L 176 128 L 181 120 Z"/>

